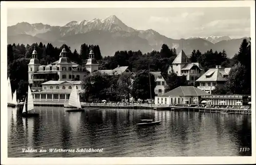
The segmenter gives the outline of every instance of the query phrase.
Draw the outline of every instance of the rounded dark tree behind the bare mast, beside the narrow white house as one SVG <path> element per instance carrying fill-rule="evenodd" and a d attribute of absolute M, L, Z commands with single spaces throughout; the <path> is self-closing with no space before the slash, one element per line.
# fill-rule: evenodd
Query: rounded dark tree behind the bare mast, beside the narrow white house
<path fill-rule="evenodd" d="M 143 101 L 151 98 L 151 95 L 153 98 L 155 97 L 155 87 L 155 76 L 148 74 L 147 70 L 139 71 L 133 81 L 133 97 L 136 99 L 142 99 Z"/>

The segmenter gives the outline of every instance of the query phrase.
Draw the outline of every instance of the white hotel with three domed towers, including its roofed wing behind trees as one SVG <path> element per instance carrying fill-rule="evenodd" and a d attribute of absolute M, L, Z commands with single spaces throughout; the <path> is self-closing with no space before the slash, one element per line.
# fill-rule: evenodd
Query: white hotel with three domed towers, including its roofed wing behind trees
<path fill-rule="evenodd" d="M 32 59 L 28 64 L 29 85 L 35 105 L 65 105 L 68 103 L 70 93 L 76 87 L 81 99 L 81 80 L 89 72 L 97 71 L 106 74 L 122 74 L 131 72 L 127 66 L 117 67 L 113 70 L 98 70 L 99 64 L 94 59 L 91 50 L 89 59 L 84 66 L 72 62 L 67 57 L 65 48 L 59 55 L 59 60 L 47 66 L 40 65 L 36 50 L 32 53 Z M 131 74 L 133 74 L 131 72 Z M 56 80 L 52 80 L 52 79 Z M 78 80 L 73 80 L 74 78 Z M 82 101 L 82 100 L 81 100 Z"/>

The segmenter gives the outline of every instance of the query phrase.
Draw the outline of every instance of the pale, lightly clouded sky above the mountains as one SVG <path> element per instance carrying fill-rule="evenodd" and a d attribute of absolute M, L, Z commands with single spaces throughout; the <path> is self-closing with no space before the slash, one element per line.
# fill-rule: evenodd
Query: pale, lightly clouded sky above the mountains
<path fill-rule="evenodd" d="M 250 8 L 22 8 L 8 9 L 7 24 L 18 22 L 63 26 L 70 21 L 116 15 L 136 30 L 153 29 L 173 39 L 250 36 Z"/>

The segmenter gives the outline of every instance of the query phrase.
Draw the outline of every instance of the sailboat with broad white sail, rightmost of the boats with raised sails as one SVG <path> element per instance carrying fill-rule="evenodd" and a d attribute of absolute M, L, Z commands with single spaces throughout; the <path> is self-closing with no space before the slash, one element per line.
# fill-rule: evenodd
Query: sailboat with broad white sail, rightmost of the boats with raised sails
<path fill-rule="evenodd" d="M 80 98 L 79 98 L 79 94 L 77 93 L 76 86 L 75 88 L 72 89 L 71 94 L 69 96 L 69 105 L 71 105 L 72 107 L 76 107 L 76 109 L 70 109 L 70 110 L 67 110 L 67 112 L 84 111 L 84 109 L 82 109 L 81 107 Z"/>

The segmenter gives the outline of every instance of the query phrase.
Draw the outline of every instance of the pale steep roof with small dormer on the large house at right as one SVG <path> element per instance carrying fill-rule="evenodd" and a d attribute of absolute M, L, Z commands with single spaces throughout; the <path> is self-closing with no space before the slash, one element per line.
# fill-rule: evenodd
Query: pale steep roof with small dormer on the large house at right
<path fill-rule="evenodd" d="M 230 68 L 210 68 L 196 81 L 226 81 Z"/>

